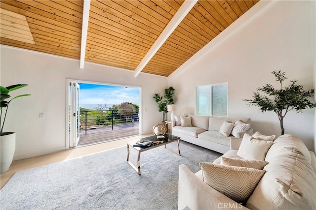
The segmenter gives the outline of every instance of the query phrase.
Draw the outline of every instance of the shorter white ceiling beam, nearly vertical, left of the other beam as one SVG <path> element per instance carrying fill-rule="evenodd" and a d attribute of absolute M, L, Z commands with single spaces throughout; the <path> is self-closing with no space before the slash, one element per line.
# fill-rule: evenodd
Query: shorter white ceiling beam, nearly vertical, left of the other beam
<path fill-rule="evenodd" d="M 80 68 L 83 68 L 83 66 L 84 66 L 85 47 L 87 44 L 87 34 L 88 34 L 90 3 L 91 3 L 90 0 L 84 0 L 84 2 L 83 2 Z"/>

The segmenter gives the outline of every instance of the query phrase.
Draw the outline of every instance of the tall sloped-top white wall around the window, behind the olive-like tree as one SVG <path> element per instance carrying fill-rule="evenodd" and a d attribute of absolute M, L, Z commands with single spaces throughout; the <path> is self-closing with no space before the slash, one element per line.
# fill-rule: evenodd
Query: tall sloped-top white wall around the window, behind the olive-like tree
<path fill-rule="evenodd" d="M 228 82 L 228 116 L 250 117 L 255 131 L 279 136 L 276 114 L 259 113 L 242 99 L 250 99 L 267 83 L 278 88 L 274 70 L 285 71 L 289 80 L 298 80 L 305 89 L 315 88 L 315 9 L 311 8 L 315 1 L 259 1 L 168 77 L 168 85 L 177 90 L 175 113 L 195 113 L 196 86 Z M 288 113 L 284 128 L 309 150 L 315 149 L 315 109 Z"/>

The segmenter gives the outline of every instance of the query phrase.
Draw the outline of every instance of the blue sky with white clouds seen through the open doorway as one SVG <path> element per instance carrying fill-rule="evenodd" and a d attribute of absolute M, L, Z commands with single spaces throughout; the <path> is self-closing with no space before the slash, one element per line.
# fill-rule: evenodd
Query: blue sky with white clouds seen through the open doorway
<path fill-rule="evenodd" d="M 140 88 L 125 88 L 120 86 L 106 86 L 79 83 L 80 104 L 120 104 L 132 102 L 139 105 Z"/>

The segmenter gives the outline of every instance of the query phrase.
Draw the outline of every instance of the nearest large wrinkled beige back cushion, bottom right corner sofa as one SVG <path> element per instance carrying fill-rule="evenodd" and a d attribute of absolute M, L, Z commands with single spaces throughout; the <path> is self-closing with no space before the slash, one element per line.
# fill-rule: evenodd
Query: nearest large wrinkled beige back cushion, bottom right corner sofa
<path fill-rule="evenodd" d="M 267 172 L 249 197 L 247 208 L 251 210 L 316 209 L 316 175 L 303 155 L 283 151 L 271 156 L 269 164 L 264 169 Z"/>

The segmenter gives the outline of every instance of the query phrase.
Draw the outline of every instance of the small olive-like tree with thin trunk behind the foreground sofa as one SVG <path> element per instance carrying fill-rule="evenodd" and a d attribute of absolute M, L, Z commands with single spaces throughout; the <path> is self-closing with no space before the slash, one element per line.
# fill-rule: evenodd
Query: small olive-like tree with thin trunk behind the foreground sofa
<path fill-rule="evenodd" d="M 280 121 L 281 135 L 283 135 L 283 119 L 289 111 L 296 110 L 299 113 L 308 107 L 316 107 L 316 103 L 308 100 L 309 97 L 314 96 L 314 89 L 303 90 L 303 86 L 296 85 L 296 80 L 291 80 L 288 86 L 283 87 L 282 82 L 287 79 L 285 72 L 273 71 L 271 73 L 276 77 L 275 81 L 280 83 L 281 89 L 275 89 L 271 84 L 267 84 L 262 88 L 257 88 L 258 91 L 254 92 L 252 99 L 243 100 L 249 105 L 258 106 L 262 113 L 275 112 Z"/>

